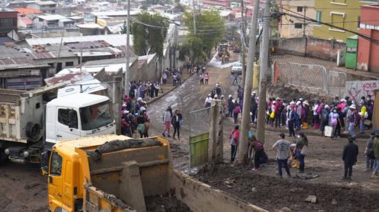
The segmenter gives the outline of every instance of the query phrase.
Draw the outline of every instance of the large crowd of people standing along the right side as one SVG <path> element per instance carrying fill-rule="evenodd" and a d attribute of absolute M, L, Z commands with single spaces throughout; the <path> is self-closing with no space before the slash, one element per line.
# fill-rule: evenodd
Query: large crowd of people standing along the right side
<path fill-rule="evenodd" d="M 289 136 L 295 136 L 295 130 L 308 129 L 309 125 L 320 130 L 325 136 L 325 129 L 329 127 L 331 139 L 340 138 L 341 133 L 349 133 L 356 138 L 355 128 L 360 134 L 371 127 L 373 116 L 373 100 L 362 96 L 358 103 L 348 96 L 340 100 L 338 97 L 331 103 L 325 100 L 316 100 L 313 104 L 308 100 L 269 98 L 267 102 L 267 124 L 271 127 L 286 127 Z"/>

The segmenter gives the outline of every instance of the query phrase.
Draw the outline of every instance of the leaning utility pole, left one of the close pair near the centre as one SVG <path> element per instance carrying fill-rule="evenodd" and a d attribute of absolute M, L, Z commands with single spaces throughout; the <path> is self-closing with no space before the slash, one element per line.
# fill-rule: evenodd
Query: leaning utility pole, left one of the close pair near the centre
<path fill-rule="evenodd" d="M 252 106 L 252 78 L 254 70 L 254 58 L 256 52 L 256 27 L 258 25 L 259 0 L 254 0 L 252 25 L 249 34 L 249 57 L 247 58 L 246 83 L 243 92 L 243 113 L 240 136 L 240 148 L 238 149 L 238 162 L 247 164 L 247 134 L 250 125 L 250 107 Z"/>

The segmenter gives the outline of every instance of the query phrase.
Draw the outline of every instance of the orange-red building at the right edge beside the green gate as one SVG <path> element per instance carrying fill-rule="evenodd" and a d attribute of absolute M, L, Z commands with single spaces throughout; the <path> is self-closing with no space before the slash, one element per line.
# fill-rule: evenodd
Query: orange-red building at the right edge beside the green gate
<path fill-rule="evenodd" d="M 379 5 L 361 6 L 359 32 L 379 41 Z M 348 50 L 349 51 L 349 50 Z M 359 37 L 358 70 L 379 73 L 379 45 Z"/>

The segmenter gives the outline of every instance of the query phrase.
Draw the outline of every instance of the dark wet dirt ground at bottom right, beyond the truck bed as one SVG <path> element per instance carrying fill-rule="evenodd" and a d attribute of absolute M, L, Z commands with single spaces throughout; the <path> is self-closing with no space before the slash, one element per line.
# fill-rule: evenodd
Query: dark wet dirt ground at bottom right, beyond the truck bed
<path fill-rule="evenodd" d="M 264 176 L 250 167 L 216 165 L 203 167 L 195 178 L 236 198 L 274 211 L 373 211 L 379 209 L 378 192 L 343 186 L 314 184 L 293 178 Z M 316 195 L 316 203 L 305 202 Z"/>

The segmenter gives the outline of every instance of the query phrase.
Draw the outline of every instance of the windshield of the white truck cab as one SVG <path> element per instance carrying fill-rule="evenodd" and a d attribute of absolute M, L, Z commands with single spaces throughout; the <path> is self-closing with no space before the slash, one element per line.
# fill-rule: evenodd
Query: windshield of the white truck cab
<path fill-rule="evenodd" d="M 109 101 L 88 107 L 81 107 L 79 112 L 82 130 L 96 129 L 113 122 L 112 109 Z"/>

